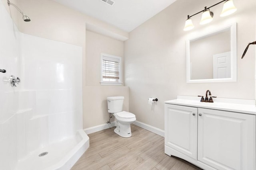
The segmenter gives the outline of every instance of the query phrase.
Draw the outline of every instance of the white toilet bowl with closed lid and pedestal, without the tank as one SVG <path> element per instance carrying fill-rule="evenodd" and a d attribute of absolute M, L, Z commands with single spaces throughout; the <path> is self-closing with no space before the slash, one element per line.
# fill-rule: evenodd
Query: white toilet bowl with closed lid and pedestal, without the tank
<path fill-rule="evenodd" d="M 116 117 L 116 129 L 114 129 L 114 132 L 121 137 L 131 137 L 132 131 L 130 124 L 136 121 L 135 115 L 127 111 L 113 113 L 113 115 Z"/>

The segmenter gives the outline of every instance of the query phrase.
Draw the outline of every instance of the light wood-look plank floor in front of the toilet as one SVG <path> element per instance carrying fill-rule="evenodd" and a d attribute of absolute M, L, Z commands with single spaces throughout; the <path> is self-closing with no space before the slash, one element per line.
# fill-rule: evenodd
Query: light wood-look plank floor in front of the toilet
<path fill-rule="evenodd" d="M 71 170 L 201 170 L 164 154 L 164 137 L 132 124 L 132 137 L 123 138 L 114 128 L 88 135 L 90 147 Z"/>

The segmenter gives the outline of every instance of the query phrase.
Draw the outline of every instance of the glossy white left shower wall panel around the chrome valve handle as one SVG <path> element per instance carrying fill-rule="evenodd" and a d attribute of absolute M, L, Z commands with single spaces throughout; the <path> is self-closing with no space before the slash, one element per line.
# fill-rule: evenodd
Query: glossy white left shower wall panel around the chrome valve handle
<path fill-rule="evenodd" d="M 0 23 L 0 69 L 6 70 L 0 72 L 0 169 L 12 170 L 17 162 L 18 92 L 3 80 L 19 72 L 20 34 L 1 2 Z"/>

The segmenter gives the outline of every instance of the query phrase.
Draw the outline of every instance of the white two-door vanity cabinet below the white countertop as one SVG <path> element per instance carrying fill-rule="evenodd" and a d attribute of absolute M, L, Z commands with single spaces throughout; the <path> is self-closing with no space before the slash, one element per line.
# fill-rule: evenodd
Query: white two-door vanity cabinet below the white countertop
<path fill-rule="evenodd" d="M 165 153 L 204 170 L 256 170 L 256 115 L 165 104 Z"/>

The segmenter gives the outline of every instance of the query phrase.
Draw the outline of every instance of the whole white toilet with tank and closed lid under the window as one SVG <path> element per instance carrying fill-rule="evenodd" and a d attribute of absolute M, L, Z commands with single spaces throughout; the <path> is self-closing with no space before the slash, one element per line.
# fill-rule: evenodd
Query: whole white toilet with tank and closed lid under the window
<path fill-rule="evenodd" d="M 108 113 L 112 113 L 116 117 L 116 129 L 114 129 L 114 132 L 121 137 L 131 137 L 130 124 L 136 121 L 136 117 L 133 113 L 122 111 L 124 96 L 107 97 L 107 101 Z"/>

